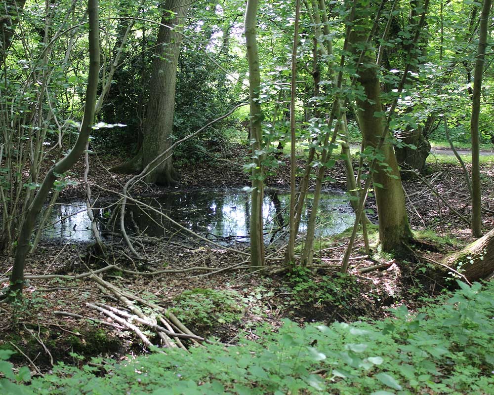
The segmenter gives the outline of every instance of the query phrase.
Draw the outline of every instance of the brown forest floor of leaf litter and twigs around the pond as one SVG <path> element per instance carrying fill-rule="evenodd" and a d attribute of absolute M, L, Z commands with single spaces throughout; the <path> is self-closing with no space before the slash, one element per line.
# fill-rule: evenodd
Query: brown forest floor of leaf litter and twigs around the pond
<path fill-rule="evenodd" d="M 246 156 L 245 147 L 230 147 L 218 158 L 210 158 L 201 165 L 181 166 L 178 187 L 140 184 L 132 190 L 132 196 L 159 196 L 170 189 L 247 186 L 249 177 L 242 168 Z M 93 196 L 109 197 L 110 191 L 122 191 L 130 176 L 110 173 L 107 169 L 114 164 L 115 158 L 93 158 L 89 173 Z M 302 166 L 303 161 L 299 164 Z M 81 162 L 71 176 L 73 179 L 82 180 L 82 166 Z M 282 166 L 266 183 L 271 188 L 288 190 L 288 174 L 289 167 Z M 128 353 L 145 353 L 147 348 L 132 330 L 94 309 L 96 303 L 125 308 L 116 292 L 91 276 L 108 265 L 112 267 L 101 272 L 102 278 L 141 300 L 146 315 L 154 317 L 156 306 L 169 309 L 197 335 L 214 336 L 226 344 L 236 343 L 239 336 L 255 339 L 260 325 L 269 323 L 276 328 L 284 318 L 300 324 L 329 323 L 384 317 L 388 308 L 402 304 L 414 309 L 424 303 L 424 297 L 448 286 L 447 282 L 424 277 L 420 256 L 439 260 L 471 241 L 468 224 L 452 210 L 465 218 L 470 215 L 461 167 L 430 164 L 427 174 L 423 178 L 442 199 L 419 178 L 407 177 L 404 181 L 412 229 L 417 239 L 423 241 L 420 247 L 412 246 L 407 262 L 397 261 L 375 246 L 371 256 L 367 256 L 360 237 L 353 249 L 350 276 L 338 273 L 348 232 L 319 239 L 314 267 L 289 274 L 281 265 L 283 244 L 267 247 L 270 266 L 260 273 L 248 268 L 245 244 L 191 246 L 179 241 L 153 241 L 142 244 L 139 250 L 150 259 L 139 261 L 130 258 L 130 252 L 118 239 L 109 242 L 106 260 L 88 243 L 41 240 L 29 257 L 27 272 L 31 276 L 54 276 L 31 279 L 24 301 L 0 305 L 0 349 L 17 351 L 14 361 L 30 364 L 39 373 L 51 369 L 57 361 L 80 364 L 81 359 L 90 356 L 118 359 Z M 337 162 L 329 175 L 333 181 L 327 184 L 328 189 L 345 188 L 342 163 Z M 484 229 L 490 230 L 494 227 L 494 162 L 482 164 L 482 183 Z M 60 200 L 82 197 L 84 189 L 80 182 L 62 191 Z M 372 199 L 368 208 L 376 211 Z M 375 215 L 370 219 L 375 221 Z M 371 227 L 370 237 L 375 242 L 375 227 Z M 426 245 L 430 248 L 421 250 Z M 8 274 L 11 266 L 11 257 L 3 258 L 7 270 L 1 277 Z M 379 269 L 375 269 L 377 266 Z M 81 274 L 82 278 L 75 278 Z M 6 286 L 6 282 L 0 286 Z M 159 343 L 152 331 L 144 333 L 152 343 Z"/>

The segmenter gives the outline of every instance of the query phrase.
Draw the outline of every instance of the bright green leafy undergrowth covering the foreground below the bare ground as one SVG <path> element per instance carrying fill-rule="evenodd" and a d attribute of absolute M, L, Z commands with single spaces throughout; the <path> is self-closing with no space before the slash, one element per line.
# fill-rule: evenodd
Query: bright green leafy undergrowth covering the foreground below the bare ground
<path fill-rule="evenodd" d="M 289 320 L 259 340 L 190 353 L 59 364 L 30 381 L 0 362 L 2 394 L 493 394 L 494 283 L 475 283 L 411 315 L 383 321 L 311 324 Z M 1 351 L 0 358 L 9 352 Z M 108 363 L 108 364 L 106 364 Z M 17 381 L 17 383 L 15 383 Z M 14 384 L 15 383 L 15 384 Z"/>

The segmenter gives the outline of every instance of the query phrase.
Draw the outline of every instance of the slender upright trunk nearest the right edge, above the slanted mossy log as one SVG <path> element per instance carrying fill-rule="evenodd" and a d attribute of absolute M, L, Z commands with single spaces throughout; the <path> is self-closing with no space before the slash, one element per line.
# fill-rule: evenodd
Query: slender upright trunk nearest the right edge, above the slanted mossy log
<path fill-rule="evenodd" d="M 479 114 L 480 114 L 480 90 L 482 88 L 482 73 L 484 71 L 484 58 L 487 47 L 487 34 L 489 30 L 489 13 L 492 0 L 484 0 L 480 14 L 479 46 L 475 60 L 472 92 L 472 118 L 470 121 L 470 135 L 472 137 L 472 233 L 475 237 L 482 236 L 481 217 L 481 185 L 480 185 L 480 136 L 479 136 Z"/>

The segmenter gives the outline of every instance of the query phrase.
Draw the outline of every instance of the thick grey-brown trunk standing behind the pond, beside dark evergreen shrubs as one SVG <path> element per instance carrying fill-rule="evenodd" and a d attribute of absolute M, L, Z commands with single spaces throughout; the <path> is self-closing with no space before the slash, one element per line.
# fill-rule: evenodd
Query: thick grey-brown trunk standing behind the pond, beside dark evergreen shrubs
<path fill-rule="evenodd" d="M 158 33 L 157 51 L 153 59 L 149 101 L 142 142 L 142 168 L 158 157 L 171 145 L 173 115 L 175 111 L 175 85 L 178 56 L 182 41 L 182 28 L 191 2 L 188 0 L 167 0 L 165 15 Z M 168 11 L 173 10 L 173 13 Z M 172 26 L 173 29 L 169 27 Z M 178 173 L 173 168 L 171 154 L 153 166 L 146 182 L 160 185 L 177 183 Z"/>

